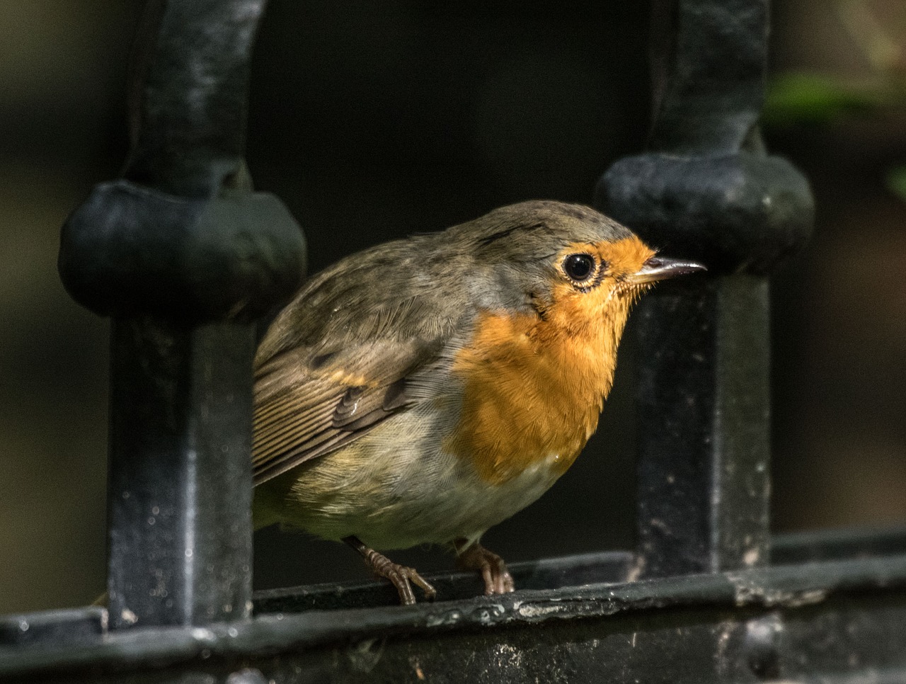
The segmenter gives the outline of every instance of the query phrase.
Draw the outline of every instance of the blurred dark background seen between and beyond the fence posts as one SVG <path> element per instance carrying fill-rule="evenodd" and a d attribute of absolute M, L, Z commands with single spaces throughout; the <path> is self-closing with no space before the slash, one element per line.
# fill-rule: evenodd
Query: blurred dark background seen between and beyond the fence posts
<path fill-rule="evenodd" d="M 644 145 L 646 8 L 270 0 L 253 64 L 256 185 L 304 226 L 313 271 L 513 201 L 587 202 Z M 56 250 L 63 219 L 124 159 L 139 9 L 0 0 L 0 613 L 104 589 L 108 324 L 67 297 Z M 773 278 L 774 526 L 902 523 L 901 0 L 779 0 L 772 72 L 766 140 L 817 201 L 812 244 Z M 639 362 L 624 344 L 587 453 L 489 547 L 516 561 L 631 546 Z M 255 549 L 258 587 L 364 577 L 340 544 L 265 530 Z"/>

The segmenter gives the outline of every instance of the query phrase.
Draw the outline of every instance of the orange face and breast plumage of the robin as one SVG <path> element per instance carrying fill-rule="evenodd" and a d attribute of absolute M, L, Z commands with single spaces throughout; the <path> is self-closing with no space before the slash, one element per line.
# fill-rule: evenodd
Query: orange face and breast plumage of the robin
<path fill-rule="evenodd" d="M 445 447 L 502 484 L 547 460 L 559 475 L 597 427 L 611 389 L 617 345 L 638 288 L 622 283 L 653 250 L 638 238 L 573 245 L 557 257 L 592 255 L 583 291 L 557 274 L 543 316 L 483 312 L 452 372 L 463 383 L 459 426 Z"/>

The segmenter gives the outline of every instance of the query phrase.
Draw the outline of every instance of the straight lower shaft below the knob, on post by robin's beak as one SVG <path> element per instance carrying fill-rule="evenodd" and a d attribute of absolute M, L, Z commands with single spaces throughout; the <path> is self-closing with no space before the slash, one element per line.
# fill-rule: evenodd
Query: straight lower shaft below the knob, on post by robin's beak
<path fill-rule="evenodd" d="M 767 284 L 678 287 L 637 314 L 639 542 L 649 575 L 766 562 Z"/>

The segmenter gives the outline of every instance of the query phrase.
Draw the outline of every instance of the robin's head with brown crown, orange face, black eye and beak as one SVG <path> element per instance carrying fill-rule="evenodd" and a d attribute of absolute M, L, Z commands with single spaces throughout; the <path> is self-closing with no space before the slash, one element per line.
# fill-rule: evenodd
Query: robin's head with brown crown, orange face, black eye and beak
<path fill-rule="evenodd" d="M 612 323 L 619 336 L 631 304 L 652 284 L 705 270 L 657 255 L 590 207 L 562 202 L 502 207 L 448 234 L 473 255 L 474 301 L 487 309 L 500 300 L 510 311 L 534 310 L 564 332 Z"/>

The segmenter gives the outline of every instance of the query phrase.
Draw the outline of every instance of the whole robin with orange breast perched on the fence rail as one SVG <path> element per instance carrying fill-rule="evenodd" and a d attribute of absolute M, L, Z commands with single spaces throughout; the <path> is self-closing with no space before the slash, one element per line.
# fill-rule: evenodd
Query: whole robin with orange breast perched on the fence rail
<path fill-rule="evenodd" d="M 591 207 L 533 200 L 342 258 L 255 354 L 255 529 L 342 541 L 400 602 L 436 591 L 384 552 L 439 544 L 512 592 L 481 536 L 593 435 L 631 305 L 706 270 Z"/>

